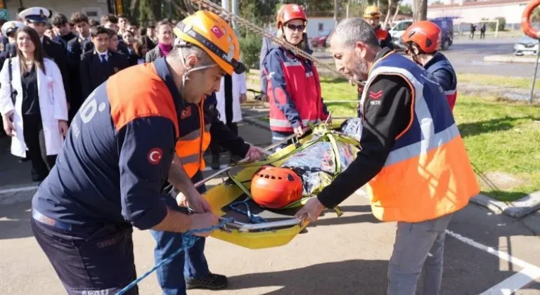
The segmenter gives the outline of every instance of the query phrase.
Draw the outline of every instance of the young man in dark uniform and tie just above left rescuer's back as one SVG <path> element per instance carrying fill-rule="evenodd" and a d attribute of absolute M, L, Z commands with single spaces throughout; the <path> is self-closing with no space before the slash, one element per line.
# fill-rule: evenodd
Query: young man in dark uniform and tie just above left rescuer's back
<path fill-rule="evenodd" d="M 82 97 L 86 98 L 104 81 L 129 66 L 127 58 L 121 53 L 109 49 L 110 35 L 118 36 L 115 31 L 105 27 L 93 27 L 90 30 L 94 50 L 88 51 L 81 58 Z"/>

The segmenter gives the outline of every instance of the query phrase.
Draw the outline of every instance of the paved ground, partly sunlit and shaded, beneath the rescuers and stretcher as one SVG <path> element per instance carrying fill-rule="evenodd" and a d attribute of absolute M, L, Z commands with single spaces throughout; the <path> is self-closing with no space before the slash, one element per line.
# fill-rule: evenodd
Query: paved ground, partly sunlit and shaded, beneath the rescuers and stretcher
<path fill-rule="evenodd" d="M 269 143 L 264 129 L 242 125 L 240 133 L 251 143 Z M 24 183 L 28 165 L 8 160 L 5 142 L 0 139 L 1 185 L 6 180 Z M 0 203 L 0 294 L 64 294 L 32 237 L 30 202 L 21 199 Z M 395 223 L 378 222 L 361 196 L 347 199 L 342 209 L 342 217 L 327 213 L 284 247 L 255 251 L 208 239 L 210 268 L 228 275 L 230 287 L 189 294 L 384 294 Z M 466 207 L 449 226 L 441 294 L 510 294 L 514 288 L 519 289 L 515 294 L 540 294 L 539 233 L 540 214 L 515 221 Z M 141 231 L 134 240 L 141 275 L 153 266 L 154 241 Z M 141 294 L 160 294 L 155 275 L 140 287 Z"/>

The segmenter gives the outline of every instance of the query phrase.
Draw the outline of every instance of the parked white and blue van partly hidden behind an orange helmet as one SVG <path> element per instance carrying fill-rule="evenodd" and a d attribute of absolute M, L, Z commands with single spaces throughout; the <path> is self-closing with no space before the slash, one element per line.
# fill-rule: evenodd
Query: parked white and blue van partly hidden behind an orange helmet
<path fill-rule="evenodd" d="M 446 50 L 454 43 L 454 21 L 452 18 L 432 18 L 430 21 L 435 22 L 441 30 L 441 49 Z M 389 33 L 392 36 L 392 42 L 397 50 L 405 50 L 404 44 L 401 42 L 401 35 L 413 24 L 413 20 L 400 20 L 396 22 Z"/>

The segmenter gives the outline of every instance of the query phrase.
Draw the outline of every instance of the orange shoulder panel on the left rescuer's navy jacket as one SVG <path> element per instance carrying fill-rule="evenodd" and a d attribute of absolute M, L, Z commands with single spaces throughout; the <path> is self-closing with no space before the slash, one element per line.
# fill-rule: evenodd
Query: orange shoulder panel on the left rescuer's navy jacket
<path fill-rule="evenodd" d="M 107 94 L 116 130 L 134 119 L 158 116 L 174 123 L 178 138 L 174 100 L 153 63 L 135 65 L 111 76 L 107 81 Z"/>

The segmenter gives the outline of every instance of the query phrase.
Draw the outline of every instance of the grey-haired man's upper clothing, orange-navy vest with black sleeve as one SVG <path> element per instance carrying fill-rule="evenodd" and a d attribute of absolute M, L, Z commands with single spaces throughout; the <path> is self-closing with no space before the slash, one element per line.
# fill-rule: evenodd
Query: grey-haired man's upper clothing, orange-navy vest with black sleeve
<path fill-rule="evenodd" d="M 331 208 L 366 185 L 380 221 L 420 222 L 466 206 L 480 188 L 435 79 L 387 48 L 370 70 L 361 107 L 362 150 L 317 196 Z"/>

